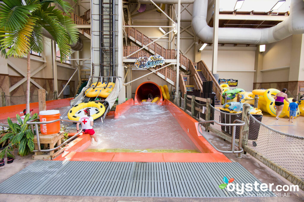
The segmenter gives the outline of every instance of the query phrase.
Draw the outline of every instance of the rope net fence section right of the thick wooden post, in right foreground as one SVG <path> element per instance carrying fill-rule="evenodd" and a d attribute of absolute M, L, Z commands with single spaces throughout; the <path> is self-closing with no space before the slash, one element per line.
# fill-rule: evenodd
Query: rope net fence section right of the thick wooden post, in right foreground
<path fill-rule="evenodd" d="M 249 130 L 249 135 L 258 136 L 248 140 L 247 147 L 304 180 L 304 137 L 276 131 L 252 114 L 250 121 L 256 124 Z"/>

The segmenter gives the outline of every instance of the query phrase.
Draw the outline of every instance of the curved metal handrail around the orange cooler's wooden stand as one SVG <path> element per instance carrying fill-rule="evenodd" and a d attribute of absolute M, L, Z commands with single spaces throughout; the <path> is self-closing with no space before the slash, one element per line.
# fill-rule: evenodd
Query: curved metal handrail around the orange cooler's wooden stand
<path fill-rule="evenodd" d="M 26 124 L 31 125 L 33 133 L 34 133 L 33 125 L 35 125 L 35 129 L 36 129 L 38 150 L 33 150 L 33 152 L 39 152 L 39 151 L 49 152 L 49 151 L 54 151 L 56 149 L 59 149 L 62 145 L 66 144 L 67 142 L 71 141 L 74 137 L 76 137 L 77 135 L 79 135 L 80 133 L 82 133 L 82 129 L 83 129 L 83 123 L 81 121 L 71 121 L 71 120 L 68 120 L 68 119 L 60 118 L 60 119 L 56 119 L 56 120 L 52 120 L 52 121 L 33 122 L 33 121 L 37 121 L 37 120 L 39 120 L 39 119 L 33 119 L 31 121 L 27 121 L 26 122 Z M 56 121 L 68 121 L 68 122 L 73 122 L 73 123 L 80 123 L 81 124 L 81 130 L 79 130 L 79 132 L 76 133 L 74 136 L 70 137 L 69 139 L 67 139 L 66 141 L 64 141 L 59 146 L 57 146 L 57 147 L 55 147 L 53 149 L 41 149 L 41 147 L 40 147 L 40 138 L 39 138 L 38 124 L 51 124 L 51 123 L 54 123 Z"/>

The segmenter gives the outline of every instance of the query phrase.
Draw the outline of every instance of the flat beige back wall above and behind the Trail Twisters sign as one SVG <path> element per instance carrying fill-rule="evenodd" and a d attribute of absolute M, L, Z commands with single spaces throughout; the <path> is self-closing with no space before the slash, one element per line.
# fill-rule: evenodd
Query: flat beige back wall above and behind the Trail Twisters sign
<path fill-rule="evenodd" d="M 236 79 L 238 80 L 237 88 L 243 88 L 245 91 L 253 90 L 255 49 L 256 47 L 219 46 L 217 66 L 219 78 Z M 200 59 L 211 70 L 211 46 L 201 51 Z"/>

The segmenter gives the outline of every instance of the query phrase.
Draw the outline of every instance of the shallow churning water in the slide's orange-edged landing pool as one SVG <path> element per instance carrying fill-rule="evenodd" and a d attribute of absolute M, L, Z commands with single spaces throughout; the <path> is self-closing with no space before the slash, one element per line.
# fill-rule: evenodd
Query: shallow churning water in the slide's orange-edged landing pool
<path fill-rule="evenodd" d="M 145 103 L 129 108 L 118 119 L 94 121 L 97 146 L 87 149 L 197 150 L 165 106 Z"/>

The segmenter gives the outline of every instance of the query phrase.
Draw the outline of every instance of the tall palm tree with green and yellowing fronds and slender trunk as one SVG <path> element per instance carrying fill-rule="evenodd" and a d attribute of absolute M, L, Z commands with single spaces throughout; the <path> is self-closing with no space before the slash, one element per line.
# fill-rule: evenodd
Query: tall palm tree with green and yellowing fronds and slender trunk
<path fill-rule="evenodd" d="M 50 3 L 59 5 L 66 15 Z M 58 44 L 61 62 L 68 59 L 69 44 L 78 40 L 70 10 L 71 6 L 64 0 L 2 0 L 0 3 L 1 56 L 27 55 L 26 113 L 29 113 L 30 51 L 43 51 L 43 31 L 46 30 Z"/>

